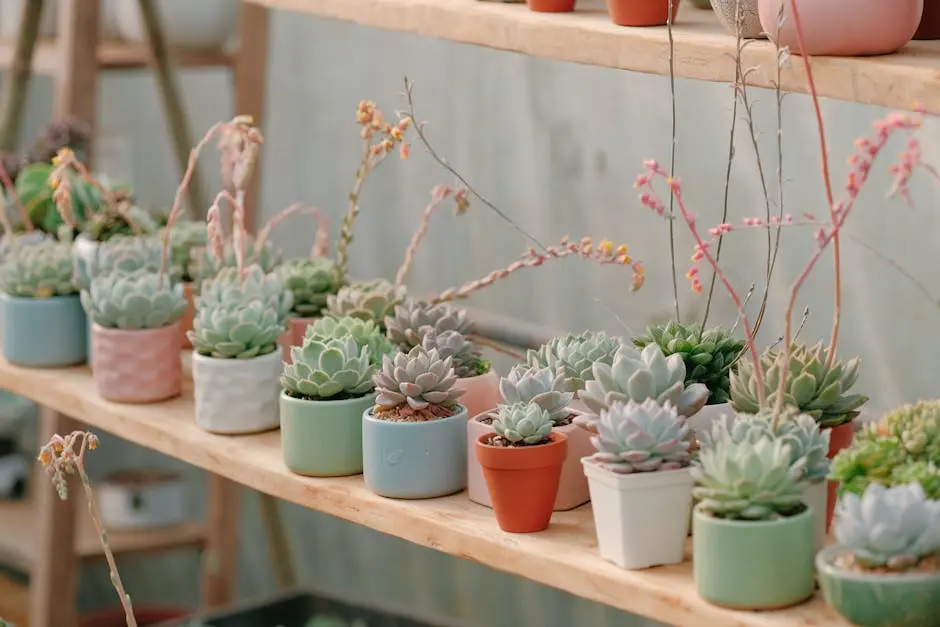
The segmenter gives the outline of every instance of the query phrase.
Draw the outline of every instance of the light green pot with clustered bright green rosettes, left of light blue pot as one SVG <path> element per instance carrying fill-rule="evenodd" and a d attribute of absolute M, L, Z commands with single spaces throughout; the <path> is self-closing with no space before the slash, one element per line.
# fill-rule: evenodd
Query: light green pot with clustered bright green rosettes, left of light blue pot
<path fill-rule="evenodd" d="M 371 320 L 321 318 L 307 328 L 281 375 L 281 450 L 291 472 L 362 472 L 362 415 L 375 401 L 372 377 L 389 352 Z"/>

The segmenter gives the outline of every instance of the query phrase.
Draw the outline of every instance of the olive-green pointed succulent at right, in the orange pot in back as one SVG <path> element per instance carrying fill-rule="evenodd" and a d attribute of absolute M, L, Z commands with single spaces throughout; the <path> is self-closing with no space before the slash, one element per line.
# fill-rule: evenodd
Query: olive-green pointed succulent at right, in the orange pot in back
<path fill-rule="evenodd" d="M 769 351 L 760 359 L 768 402 L 772 402 L 780 385 L 779 357 Z M 822 342 L 812 347 L 794 345 L 787 365 L 785 398 L 788 405 L 809 414 L 820 426 L 837 427 L 855 418 L 868 397 L 848 394 L 858 379 L 857 357 L 847 362 L 834 360 L 828 369 L 827 357 L 828 350 Z M 758 396 L 754 364 L 742 359 L 731 373 L 731 407 L 739 413 L 757 413 L 761 409 Z"/>

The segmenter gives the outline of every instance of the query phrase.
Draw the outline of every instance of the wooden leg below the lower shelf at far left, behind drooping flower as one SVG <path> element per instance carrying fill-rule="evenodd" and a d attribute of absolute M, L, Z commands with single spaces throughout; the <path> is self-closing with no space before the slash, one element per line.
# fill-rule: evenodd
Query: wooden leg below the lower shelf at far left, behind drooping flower
<path fill-rule="evenodd" d="M 40 441 L 54 434 L 78 429 L 71 418 L 42 408 Z M 33 494 L 36 499 L 38 551 L 29 581 L 30 627 L 74 627 L 75 625 L 75 527 L 77 503 L 84 497 L 74 477 L 69 478 L 69 498 L 62 500 L 45 473 L 36 473 Z"/>

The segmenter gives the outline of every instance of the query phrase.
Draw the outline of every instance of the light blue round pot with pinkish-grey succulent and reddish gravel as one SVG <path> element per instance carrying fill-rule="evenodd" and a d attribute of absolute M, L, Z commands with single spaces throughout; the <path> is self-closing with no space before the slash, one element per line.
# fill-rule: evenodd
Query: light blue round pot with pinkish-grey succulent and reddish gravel
<path fill-rule="evenodd" d="M 381 496 L 426 499 L 467 485 L 467 409 L 452 359 L 415 346 L 385 355 L 362 415 L 363 474 Z"/>

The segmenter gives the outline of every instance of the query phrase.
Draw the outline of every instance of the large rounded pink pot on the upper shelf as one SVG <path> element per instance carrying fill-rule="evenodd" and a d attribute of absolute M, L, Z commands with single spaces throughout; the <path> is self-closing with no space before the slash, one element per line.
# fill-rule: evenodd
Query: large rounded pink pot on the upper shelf
<path fill-rule="evenodd" d="M 805 50 L 797 40 L 791 2 L 759 0 L 761 27 L 794 54 L 859 57 L 896 52 L 911 40 L 924 0 L 796 0 Z M 783 28 L 778 14 L 784 7 Z"/>

